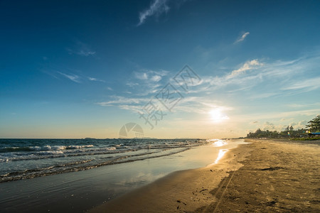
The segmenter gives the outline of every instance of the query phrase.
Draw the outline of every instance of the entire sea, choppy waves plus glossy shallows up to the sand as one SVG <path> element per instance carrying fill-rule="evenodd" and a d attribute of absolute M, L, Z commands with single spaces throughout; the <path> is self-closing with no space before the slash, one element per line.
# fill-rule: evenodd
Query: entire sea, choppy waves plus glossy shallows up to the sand
<path fill-rule="evenodd" d="M 0 139 L 1 212 L 85 212 L 244 140 Z"/>

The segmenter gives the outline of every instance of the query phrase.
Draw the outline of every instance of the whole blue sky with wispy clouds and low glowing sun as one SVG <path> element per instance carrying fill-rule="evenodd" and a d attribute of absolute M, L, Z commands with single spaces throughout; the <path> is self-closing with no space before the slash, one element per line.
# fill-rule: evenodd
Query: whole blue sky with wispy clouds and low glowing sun
<path fill-rule="evenodd" d="M 2 0 L 0 138 L 118 138 L 129 123 L 154 138 L 304 128 L 320 113 L 319 9 Z"/>

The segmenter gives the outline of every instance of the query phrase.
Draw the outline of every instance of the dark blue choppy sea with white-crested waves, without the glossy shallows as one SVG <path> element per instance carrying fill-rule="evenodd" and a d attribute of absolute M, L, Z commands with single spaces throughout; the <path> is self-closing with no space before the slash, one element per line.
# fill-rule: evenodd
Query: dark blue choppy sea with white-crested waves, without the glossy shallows
<path fill-rule="evenodd" d="M 0 139 L 0 182 L 158 158 L 206 143 L 201 139 Z"/>

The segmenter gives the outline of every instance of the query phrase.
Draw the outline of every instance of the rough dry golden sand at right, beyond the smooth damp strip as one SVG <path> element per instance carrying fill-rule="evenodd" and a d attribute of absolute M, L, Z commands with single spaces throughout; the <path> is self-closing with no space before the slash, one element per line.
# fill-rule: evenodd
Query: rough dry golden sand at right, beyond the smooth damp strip
<path fill-rule="evenodd" d="M 320 141 L 247 141 L 253 151 L 218 195 L 218 207 L 211 203 L 195 212 L 320 211 Z"/>

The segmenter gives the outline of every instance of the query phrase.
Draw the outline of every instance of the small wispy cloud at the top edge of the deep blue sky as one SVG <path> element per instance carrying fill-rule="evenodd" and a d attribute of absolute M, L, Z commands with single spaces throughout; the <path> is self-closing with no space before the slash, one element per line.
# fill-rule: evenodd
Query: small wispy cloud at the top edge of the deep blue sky
<path fill-rule="evenodd" d="M 142 25 L 146 18 L 149 16 L 159 16 L 161 13 L 167 13 L 169 6 L 166 4 L 168 0 L 154 0 L 151 2 L 149 9 L 139 13 L 139 23 L 137 26 Z"/>

